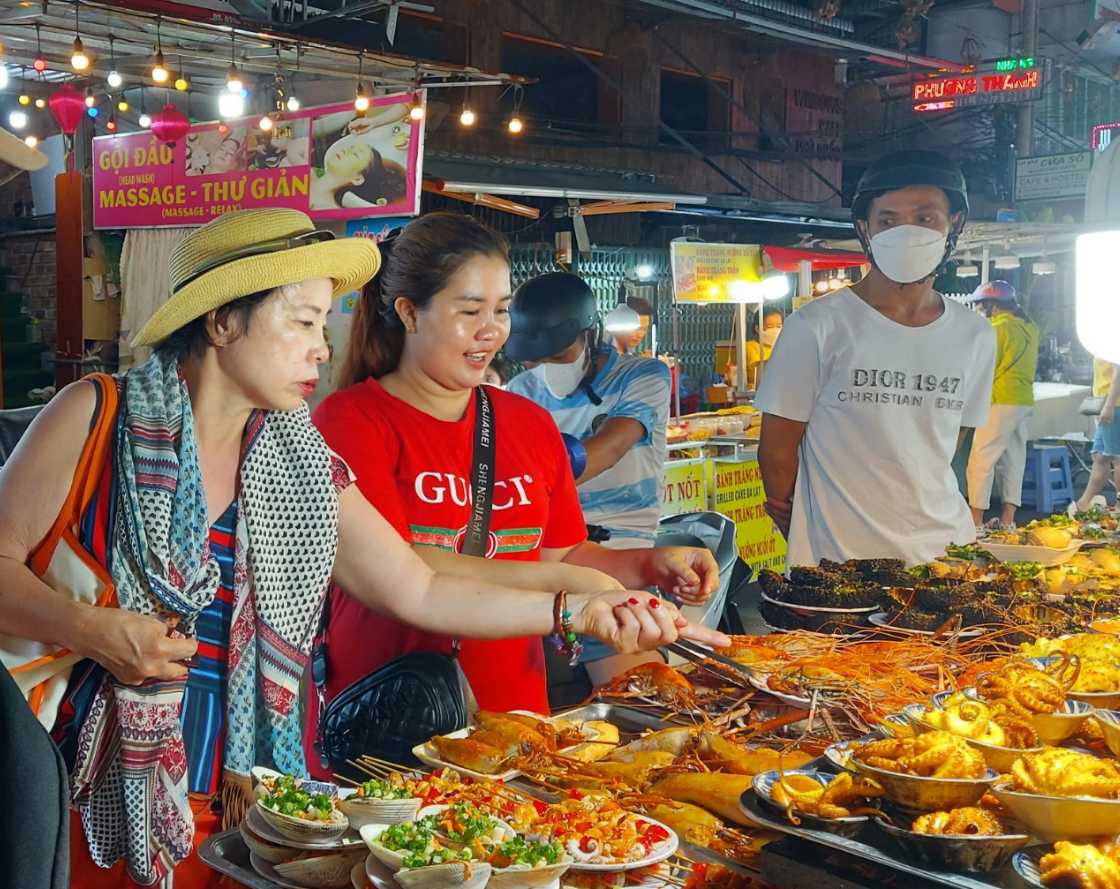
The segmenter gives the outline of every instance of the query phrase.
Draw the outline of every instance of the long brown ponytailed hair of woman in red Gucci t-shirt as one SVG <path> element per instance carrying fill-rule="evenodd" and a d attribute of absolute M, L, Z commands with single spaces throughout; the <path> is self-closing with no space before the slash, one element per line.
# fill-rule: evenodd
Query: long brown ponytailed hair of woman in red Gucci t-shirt
<path fill-rule="evenodd" d="M 381 270 L 362 289 L 354 308 L 339 389 L 371 376 L 379 380 L 401 363 L 404 322 L 396 314 L 398 299 L 427 311 L 432 297 L 470 260 L 510 261 L 505 237 L 473 216 L 445 210 L 413 219 L 379 246 Z"/>

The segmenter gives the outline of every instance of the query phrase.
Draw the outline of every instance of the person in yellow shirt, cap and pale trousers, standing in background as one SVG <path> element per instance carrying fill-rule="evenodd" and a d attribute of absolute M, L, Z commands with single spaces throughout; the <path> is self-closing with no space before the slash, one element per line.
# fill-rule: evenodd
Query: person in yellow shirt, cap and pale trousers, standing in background
<path fill-rule="evenodd" d="M 1027 465 L 1027 424 L 1035 404 L 1038 367 L 1038 327 L 1019 307 L 1018 294 L 1007 281 L 981 284 L 968 299 L 979 303 L 996 329 L 996 377 L 991 385 L 988 425 L 977 429 L 965 472 L 969 506 L 977 526 L 991 505 L 992 484 L 1004 503 L 1000 525 L 1015 526 L 1023 499 Z"/>

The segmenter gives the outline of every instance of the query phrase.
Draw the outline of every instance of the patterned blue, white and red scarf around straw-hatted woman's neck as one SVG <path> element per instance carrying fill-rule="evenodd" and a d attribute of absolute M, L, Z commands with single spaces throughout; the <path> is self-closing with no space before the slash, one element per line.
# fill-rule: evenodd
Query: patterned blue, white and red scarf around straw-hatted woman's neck
<path fill-rule="evenodd" d="M 118 425 L 120 508 L 111 572 L 121 608 L 179 618 L 193 635 L 218 589 L 209 555 L 190 397 L 174 356 L 125 376 Z M 302 774 L 299 680 L 334 565 L 338 499 L 330 453 L 307 405 L 254 414 L 240 474 L 230 630 L 225 769 Z M 185 681 L 128 686 L 106 676 L 82 728 L 72 797 L 90 852 L 128 859 L 150 886 L 190 853 L 180 709 Z"/>

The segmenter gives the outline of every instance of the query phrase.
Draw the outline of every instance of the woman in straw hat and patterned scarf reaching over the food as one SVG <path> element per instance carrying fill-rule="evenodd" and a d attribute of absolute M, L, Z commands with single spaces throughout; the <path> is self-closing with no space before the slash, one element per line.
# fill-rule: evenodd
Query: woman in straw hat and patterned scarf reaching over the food
<path fill-rule="evenodd" d="M 251 767 L 304 773 L 299 681 L 332 578 L 422 629 L 556 629 L 551 595 L 427 568 L 308 420 L 332 298 L 379 262 L 297 210 L 198 228 L 136 338 L 152 358 L 60 392 L 0 474 L 0 657 L 25 683 L 71 667 L 60 694 L 57 676 L 25 692 L 71 767 L 75 886 L 217 885 L 193 854 L 215 797 L 235 822 Z M 648 598 L 573 595 L 568 623 L 632 651 L 687 625 L 631 596 Z"/>

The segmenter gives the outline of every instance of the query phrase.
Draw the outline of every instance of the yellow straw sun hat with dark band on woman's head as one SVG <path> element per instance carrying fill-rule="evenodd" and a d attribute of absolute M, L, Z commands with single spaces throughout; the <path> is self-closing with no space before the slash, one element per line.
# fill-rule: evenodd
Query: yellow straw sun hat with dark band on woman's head
<path fill-rule="evenodd" d="M 242 209 L 218 216 L 171 251 L 171 298 L 132 340 L 155 346 L 206 312 L 250 293 L 329 278 L 334 296 L 377 273 L 381 254 L 365 237 L 335 238 L 296 209 Z"/>

